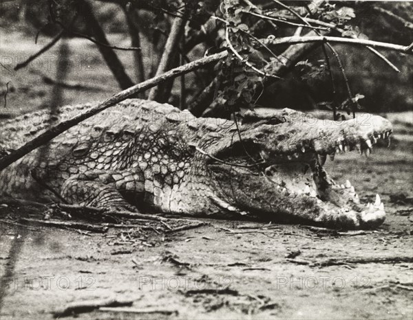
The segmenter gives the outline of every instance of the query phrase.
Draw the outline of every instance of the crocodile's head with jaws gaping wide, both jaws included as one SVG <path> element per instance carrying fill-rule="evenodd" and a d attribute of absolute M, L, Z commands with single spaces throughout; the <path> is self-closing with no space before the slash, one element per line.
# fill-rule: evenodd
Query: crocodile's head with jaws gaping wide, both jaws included
<path fill-rule="evenodd" d="M 334 159 L 351 150 L 369 155 L 372 144 L 391 133 L 390 122 L 377 116 L 363 126 L 350 120 L 309 124 L 264 119 L 240 126 L 242 142 L 232 137 L 221 144 L 225 147 L 216 150 L 207 165 L 219 185 L 218 198 L 234 204 L 226 209 L 333 228 L 372 229 L 385 220 L 380 196 L 373 204 L 360 203 L 350 181 L 336 183 L 323 165 L 327 156 Z"/>

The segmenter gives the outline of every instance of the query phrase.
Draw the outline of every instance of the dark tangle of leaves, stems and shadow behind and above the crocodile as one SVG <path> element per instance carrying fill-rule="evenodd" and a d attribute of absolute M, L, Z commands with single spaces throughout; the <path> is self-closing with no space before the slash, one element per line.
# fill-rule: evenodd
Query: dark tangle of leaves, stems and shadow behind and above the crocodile
<path fill-rule="evenodd" d="M 360 108 L 371 112 L 411 108 L 412 59 L 407 54 L 379 49 L 394 65 L 391 67 L 366 47 L 333 43 L 332 52 L 330 43 L 317 43 L 300 50 L 299 45 L 264 47 L 258 39 L 318 33 L 408 46 L 413 41 L 412 3 L 284 1 L 286 7 L 273 0 L 253 2 L 3 1 L 1 27 L 23 32 L 33 41 L 45 36 L 55 38 L 56 43 L 68 37 L 88 38 L 96 43 L 121 89 L 206 53 L 224 50 L 227 31 L 238 57 L 230 50 L 218 65 L 199 69 L 180 81 L 169 80 L 146 93 L 146 97 L 189 108 L 196 115 L 229 117 L 233 111 L 255 105 L 337 109 L 337 113 L 343 109 L 343 115 Z M 320 29 L 299 27 L 306 24 L 304 18 Z M 322 23 L 335 27 L 323 29 Z M 109 34 L 129 37 L 130 45 L 111 43 L 114 48 L 110 48 Z M 165 47 L 168 41 L 169 51 Z M 132 51 L 133 63 L 119 58 L 121 49 L 131 47 L 137 48 Z M 166 64 L 158 69 L 161 58 Z M 282 67 L 280 61 L 284 60 L 288 63 Z M 8 61 L 2 64 L 2 69 L 16 67 Z M 4 95 L 8 74 L 4 69 L 2 73 Z"/>

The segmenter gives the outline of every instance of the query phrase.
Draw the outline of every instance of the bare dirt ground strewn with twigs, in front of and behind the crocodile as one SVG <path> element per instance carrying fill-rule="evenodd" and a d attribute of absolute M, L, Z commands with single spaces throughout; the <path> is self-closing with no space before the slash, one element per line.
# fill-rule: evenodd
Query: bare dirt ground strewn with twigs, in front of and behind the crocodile
<path fill-rule="evenodd" d="M 35 52 L 23 45 L 28 41 L 2 34 L 3 65 L 12 70 L 5 56 Z M 71 43 L 72 49 L 89 46 Z M 102 63 L 94 58 L 95 67 Z M 37 71 L 35 65 L 2 71 L 1 87 L 7 78 L 15 87 L 3 111 L 47 105 L 52 89 Z M 68 78 L 81 81 L 78 74 L 71 69 Z M 110 87 L 110 77 L 96 82 Z M 67 90 L 63 102 L 102 100 L 117 90 Z M 413 113 L 387 116 L 395 128 L 390 148 L 376 148 L 370 158 L 348 153 L 326 165 L 334 179 L 352 182 L 361 201 L 381 195 L 388 215 L 374 231 L 206 219 L 200 225 L 172 217 L 167 225 L 133 220 L 136 227 L 96 233 L 23 225 L 19 218 L 42 218 L 39 208 L 1 206 L 1 319 L 47 319 L 67 304 L 109 298 L 129 304 L 77 317 L 412 319 Z"/>

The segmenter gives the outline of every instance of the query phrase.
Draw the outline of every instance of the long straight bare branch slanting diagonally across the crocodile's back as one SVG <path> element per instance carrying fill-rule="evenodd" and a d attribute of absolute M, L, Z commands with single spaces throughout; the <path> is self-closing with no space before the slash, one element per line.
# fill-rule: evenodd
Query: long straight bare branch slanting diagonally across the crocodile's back
<path fill-rule="evenodd" d="M 139 84 L 134 85 L 133 87 L 130 87 L 128 89 L 120 91 L 119 93 L 116 93 L 115 95 L 112 95 L 112 97 L 98 104 L 98 106 L 94 106 L 93 108 L 87 110 L 85 113 L 81 113 L 79 115 L 76 115 L 75 117 L 72 117 L 71 119 L 68 119 L 59 124 L 56 124 L 55 126 L 52 126 L 50 129 L 46 130 L 38 137 L 35 137 L 34 139 L 28 141 L 26 144 L 24 144 L 17 150 L 11 152 L 10 155 L 2 157 L 0 159 L 0 171 L 4 168 L 7 168 L 8 165 L 12 164 L 14 161 L 17 161 L 21 157 L 24 157 L 30 151 L 39 148 L 39 146 L 46 144 L 54 137 L 57 137 L 61 133 L 65 132 L 65 130 L 67 130 L 68 128 L 75 126 L 79 122 L 82 122 L 83 120 L 89 117 L 92 117 L 92 115 L 96 115 L 96 113 L 99 113 L 100 111 L 109 108 L 109 106 L 113 106 L 114 104 L 117 104 L 118 102 L 125 100 L 126 98 L 129 98 L 131 95 L 155 87 L 157 84 L 164 82 L 165 80 L 176 78 L 184 73 L 189 73 L 195 69 L 203 67 L 204 65 L 216 62 L 222 58 L 225 58 L 227 54 L 228 52 L 224 51 L 220 52 L 219 54 L 213 54 L 212 56 L 207 56 L 205 58 L 195 60 L 193 62 L 188 63 L 187 65 L 182 65 L 175 69 L 171 69 L 170 71 L 167 71 L 166 73 L 163 73 L 160 76 L 151 78 L 149 80 L 146 80 L 145 82 L 141 82 Z"/>

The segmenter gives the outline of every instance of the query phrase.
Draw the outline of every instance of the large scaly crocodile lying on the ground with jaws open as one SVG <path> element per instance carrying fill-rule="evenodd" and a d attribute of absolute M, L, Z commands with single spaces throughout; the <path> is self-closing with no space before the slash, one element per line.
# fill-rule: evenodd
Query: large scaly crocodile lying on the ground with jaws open
<path fill-rule="evenodd" d="M 92 106 L 4 120 L 0 150 L 10 152 Z M 380 196 L 361 204 L 350 181 L 336 183 L 323 165 L 341 152 L 369 155 L 377 139 L 391 134 L 390 122 L 377 115 L 335 122 L 285 108 L 231 120 L 197 118 L 169 104 L 130 99 L 12 163 L 1 172 L 0 194 L 131 212 L 371 229 L 385 220 Z"/>

